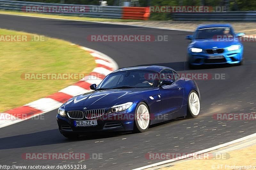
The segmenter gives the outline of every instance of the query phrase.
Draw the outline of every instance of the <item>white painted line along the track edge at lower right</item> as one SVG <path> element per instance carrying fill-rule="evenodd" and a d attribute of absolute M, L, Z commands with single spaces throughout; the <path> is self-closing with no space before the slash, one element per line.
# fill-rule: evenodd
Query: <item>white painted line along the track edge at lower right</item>
<path fill-rule="evenodd" d="M 147 169 L 147 168 L 151 168 L 153 166 L 159 166 L 159 165 L 163 165 L 163 164 L 166 164 L 166 163 L 171 163 L 171 162 L 178 161 L 178 160 L 181 160 L 181 159 L 189 158 L 189 157 L 191 157 L 191 156 L 193 156 L 195 154 L 206 153 L 206 152 L 210 152 L 210 151 L 213 151 L 213 150 L 216 150 L 216 149 L 228 146 L 230 144 L 235 144 L 237 142 L 241 142 L 241 141 L 250 139 L 252 137 L 256 137 L 256 133 L 254 133 L 252 135 L 248 135 L 248 136 L 242 137 L 242 138 L 239 138 L 239 139 L 236 139 L 236 140 L 233 140 L 233 141 L 230 141 L 230 142 L 227 142 L 225 144 L 220 144 L 220 145 L 208 148 L 208 149 L 204 149 L 202 151 L 194 152 L 194 153 L 191 153 L 191 154 L 188 154 L 188 155 L 185 155 L 185 156 L 182 156 L 182 157 L 177 157 L 177 158 L 174 158 L 174 159 L 165 160 L 165 161 L 158 162 L 158 163 L 155 163 L 155 164 L 151 164 L 151 165 L 147 165 L 147 166 L 142 166 L 140 168 L 136 168 L 136 169 L 133 169 L 133 170 Z"/>

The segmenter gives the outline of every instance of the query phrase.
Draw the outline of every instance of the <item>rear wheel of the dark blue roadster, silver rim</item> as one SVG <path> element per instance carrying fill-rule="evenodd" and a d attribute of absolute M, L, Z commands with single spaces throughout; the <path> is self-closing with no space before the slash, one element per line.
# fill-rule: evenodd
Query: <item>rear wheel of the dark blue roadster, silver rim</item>
<path fill-rule="evenodd" d="M 188 117 L 196 118 L 200 112 L 200 100 L 196 91 L 192 90 L 188 95 Z"/>

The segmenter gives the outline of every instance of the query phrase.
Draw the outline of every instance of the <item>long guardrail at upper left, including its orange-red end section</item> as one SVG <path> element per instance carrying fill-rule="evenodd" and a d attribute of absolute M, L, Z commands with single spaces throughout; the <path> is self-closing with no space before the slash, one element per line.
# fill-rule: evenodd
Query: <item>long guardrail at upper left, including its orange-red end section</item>
<path fill-rule="evenodd" d="M 77 6 L 86 7 L 86 11 L 79 12 L 44 12 L 49 14 L 59 14 L 59 15 L 75 15 L 84 17 L 98 17 L 98 18 L 124 18 L 127 17 L 127 7 L 120 6 L 97 6 L 97 5 L 76 5 L 76 4 L 52 4 L 52 3 L 38 3 L 38 2 L 25 2 L 25 1 L 8 1 L 0 0 L 0 9 L 3 10 L 13 10 L 13 11 L 23 11 L 26 6 Z M 128 16 L 131 15 L 129 19 L 148 19 L 149 18 L 149 8 L 143 7 L 128 7 L 130 11 Z M 138 10 L 140 8 L 140 10 Z M 100 9 L 95 11 L 93 9 Z M 148 10 L 146 10 L 148 9 Z M 42 12 L 43 13 L 43 12 Z"/>

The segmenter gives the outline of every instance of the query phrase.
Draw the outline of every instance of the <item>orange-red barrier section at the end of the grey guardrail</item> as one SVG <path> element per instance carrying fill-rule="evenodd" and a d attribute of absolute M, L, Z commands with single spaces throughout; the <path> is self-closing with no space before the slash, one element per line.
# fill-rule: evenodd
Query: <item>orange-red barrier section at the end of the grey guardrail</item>
<path fill-rule="evenodd" d="M 148 20 L 149 16 L 149 7 L 123 7 L 122 19 Z"/>

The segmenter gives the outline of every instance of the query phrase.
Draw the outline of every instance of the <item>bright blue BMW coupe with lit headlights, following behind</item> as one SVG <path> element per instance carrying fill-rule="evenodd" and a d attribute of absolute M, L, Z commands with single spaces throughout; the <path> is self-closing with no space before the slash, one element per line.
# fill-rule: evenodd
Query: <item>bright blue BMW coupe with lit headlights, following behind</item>
<path fill-rule="evenodd" d="M 190 68 L 205 64 L 235 64 L 244 62 L 244 47 L 240 38 L 244 33 L 234 33 L 229 24 L 204 24 L 196 28 L 188 45 L 188 63 Z"/>

